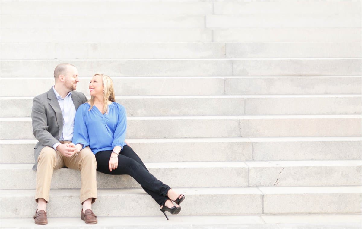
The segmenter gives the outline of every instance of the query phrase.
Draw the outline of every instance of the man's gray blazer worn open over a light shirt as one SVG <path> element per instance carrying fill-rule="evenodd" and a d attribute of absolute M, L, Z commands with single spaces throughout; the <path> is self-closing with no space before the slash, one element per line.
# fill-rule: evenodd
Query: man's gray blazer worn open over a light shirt
<path fill-rule="evenodd" d="M 87 102 L 87 97 L 81 92 L 72 91 L 72 100 L 75 110 L 77 110 L 82 103 Z M 34 147 L 35 165 L 33 170 L 36 171 L 40 151 L 46 146 L 52 147 L 58 143 L 63 132 L 63 114 L 53 88 L 33 99 L 31 122 L 33 135 L 39 141 Z"/>

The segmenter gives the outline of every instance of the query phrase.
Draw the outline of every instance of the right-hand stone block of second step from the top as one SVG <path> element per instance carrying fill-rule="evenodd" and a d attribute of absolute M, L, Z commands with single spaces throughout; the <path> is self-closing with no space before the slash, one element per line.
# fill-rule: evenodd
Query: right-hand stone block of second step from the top
<path fill-rule="evenodd" d="M 48 17 L 49 18 L 49 17 Z M 287 18 L 287 20 L 286 20 Z M 206 15 L 206 28 L 283 28 L 283 27 L 361 27 L 361 13 L 357 14 L 243 14 Z M 11 22 L 14 19 L 10 20 Z M 24 19 L 25 21 L 25 19 Z M 7 21 L 5 21 L 6 23 Z M 181 21 L 182 22 L 182 21 Z M 180 23 L 181 23 L 180 22 Z M 22 27 L 20 23 L 14 27 Z M 27 23 L 25 23 L 26 25 Z M 56 25 L 55 25 L 56 26 Z"/>

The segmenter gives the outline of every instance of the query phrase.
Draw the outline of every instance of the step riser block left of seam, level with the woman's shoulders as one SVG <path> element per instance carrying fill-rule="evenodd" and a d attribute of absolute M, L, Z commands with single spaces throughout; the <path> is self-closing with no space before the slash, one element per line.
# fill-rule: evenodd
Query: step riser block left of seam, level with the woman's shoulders
<path fill-rule="evenodd" d="M 87 95 L 88 98 L 90 96 Z M 361 98 L 359 98 L 361 100 Z M 244 98 L 161 98 L 116 99 L 126 107 L 127 116 L 243 115 Z M 31 115 L 32 99 L 1 100 L 1 116 Z M 337 104 L 336 104 L 337 105 Z M 158 107 L 157 109 L 155 109 Z M 18 112 L 14 114 L 14 109 Z M 358 108 L 357 108 L 358 109 Z M 348 110 L 348 108 L 345 108 Z M 353 112 L 357 113 L 357 112 Z M 19 116 L 19 117 L 21 117 Z"/>

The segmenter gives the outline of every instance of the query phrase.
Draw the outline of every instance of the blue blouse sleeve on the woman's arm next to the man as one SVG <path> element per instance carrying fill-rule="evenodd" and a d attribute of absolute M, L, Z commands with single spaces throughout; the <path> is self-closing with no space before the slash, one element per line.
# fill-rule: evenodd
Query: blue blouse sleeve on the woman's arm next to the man
<path fill-rule="evenodd" d="M 80 106 L 75 113 L 74 131 L 73 131 L 73 143 L 83 144 L 83 148 L 89 146 L 89 137 L 87 125 L 85 124 L 85 112 L 87 112 L 86 106 Z M 82 148 L 82 149 L 83 149 Z"/>

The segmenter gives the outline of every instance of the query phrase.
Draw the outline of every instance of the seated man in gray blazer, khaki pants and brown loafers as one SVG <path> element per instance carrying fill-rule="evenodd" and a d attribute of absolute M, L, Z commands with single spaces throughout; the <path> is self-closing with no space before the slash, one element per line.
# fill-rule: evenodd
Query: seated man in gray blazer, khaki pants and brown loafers
<path fill-rule="evenodd" d="M 89 147 L 78 151 L 72 143 L 75 112 L 87 101 L 77 88 L 78 71 L 71 64 L 58 64 L 54 70 L 55 85 L 33 99 L 31 120 L 33 134 L 39 141 L 35 145 L 34 170 L 37 171 L 35 201 L 38 209 L 35 224 L 48 223 L 46 206 L 49 201 L 53 171 L 64 166 L 79 169 L 81 173 L 80 200 L 83 205 L 81 219 L 96 224 L 92 203 L 97 198 L 97 162 Z"/>

